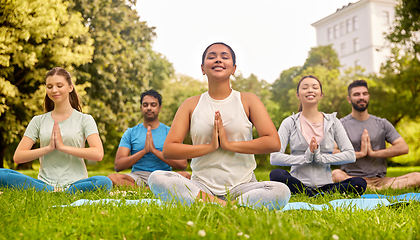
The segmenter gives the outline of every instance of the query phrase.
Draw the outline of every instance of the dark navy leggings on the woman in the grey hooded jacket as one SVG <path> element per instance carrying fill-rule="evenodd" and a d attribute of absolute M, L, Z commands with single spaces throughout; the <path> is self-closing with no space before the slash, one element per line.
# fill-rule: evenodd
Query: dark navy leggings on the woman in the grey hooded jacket
<path fill-rule="evenodd" d="M 311 188 L 304 185 L 299 179 L 290 175 L 283 169 L 274 169 L 270 173 L 270 181 L 277 181 L 286 184 L 292 194 L 305 193 L 312 197 L 318 193 L 341 192 L 363 194 L 366 190 L 366 180 L 361 177 L 352 177 L 338 183 L 331 183 L 318 188 Z"/>

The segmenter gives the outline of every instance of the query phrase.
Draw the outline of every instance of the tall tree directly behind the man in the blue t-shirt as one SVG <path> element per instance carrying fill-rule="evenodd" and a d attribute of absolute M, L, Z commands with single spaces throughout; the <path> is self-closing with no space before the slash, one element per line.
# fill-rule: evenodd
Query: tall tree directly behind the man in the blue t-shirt
<path fill-rule="evenodd" d="M 95 40 L 93 62 L 78 67 L 77 73 L 82 82 L 91 83 L 87 104 L 105 160 L 114 160 L 122 133 L 141 121 L 141 92 L 161 88 L 173 75 L 172 65 L 151 50 L 154 28 L 140 21 L 134 6 L 135 0 L 73 0 L 71 5 L 82 13 Z"/>

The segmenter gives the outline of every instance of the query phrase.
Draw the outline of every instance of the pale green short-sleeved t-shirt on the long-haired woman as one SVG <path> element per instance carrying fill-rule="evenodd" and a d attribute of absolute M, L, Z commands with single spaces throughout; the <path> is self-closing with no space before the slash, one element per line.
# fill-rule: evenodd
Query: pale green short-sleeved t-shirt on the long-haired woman
<path fill-rule="evenodd" d="M 73 110 L 71 116 L 58 123 L 63 143 L 66 146 L 84 148 L 86 138 L 98 133 L 95 120 L 88 114 Z M 34 142 L 39 138 L 40 146 L 50 144 L 54 120 L 51 112 L 32 118 L 25 131 L 25 136 Z M 41 167 L 38 179 L 57 187 L 66 187 L 78 180 L 88 177 L 83 158 L 71 156 L 54 149 L 54 151 L 39 158 Z"/>

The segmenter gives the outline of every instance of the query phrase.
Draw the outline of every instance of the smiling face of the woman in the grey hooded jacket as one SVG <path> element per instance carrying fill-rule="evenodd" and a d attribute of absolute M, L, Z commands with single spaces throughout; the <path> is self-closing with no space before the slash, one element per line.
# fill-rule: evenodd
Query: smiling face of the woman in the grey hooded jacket
<path fill-rule="evenodd" d="M 312 77 L 307 77 L 300 81 L 296 97 L 300 100 L 303 106 L 318 104 L 324 94 L 321 90 L 319 81 Z"/>

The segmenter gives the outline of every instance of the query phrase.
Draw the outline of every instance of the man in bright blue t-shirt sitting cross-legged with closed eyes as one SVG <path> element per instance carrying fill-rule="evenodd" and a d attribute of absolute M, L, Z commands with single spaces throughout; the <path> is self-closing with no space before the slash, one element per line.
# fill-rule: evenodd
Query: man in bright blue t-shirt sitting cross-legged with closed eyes
<path fill-rule="evenodd" d="M 162 148 L 169 127 L 159 122 L 162 96 L 151 89 L 141 94 L 140 103 L 143 123 L 124 132 L 115 156 L 115 170 L 119 172 L 131 167 L 131 173 L 110 174 L 108 177 L 114 186 L 147 187 L 149 175 L 153 171 L 171 171 L 172 167 L 185 170 L 188 164 L 187 159 L 163 158 Z M 191 177 L 188 172 L 179 173 Z"/>

